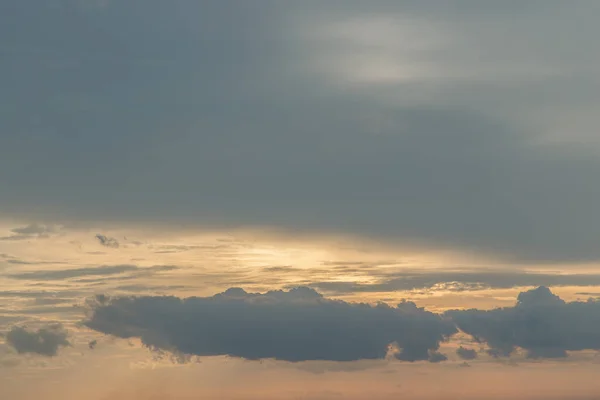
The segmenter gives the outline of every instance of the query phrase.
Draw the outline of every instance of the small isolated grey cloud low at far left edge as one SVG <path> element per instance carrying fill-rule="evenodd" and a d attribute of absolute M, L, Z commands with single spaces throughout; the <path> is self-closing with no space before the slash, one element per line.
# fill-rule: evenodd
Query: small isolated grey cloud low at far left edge
<path fill-rule="evenodd" d="M 49 325 L 37 331 L 15 326 L 6 334 L 6 342 L 19 354 L 34 353 L 53 357 L 61 347 L 71 345 L 67 336 L 67 331 L 60 324 Z"/>

